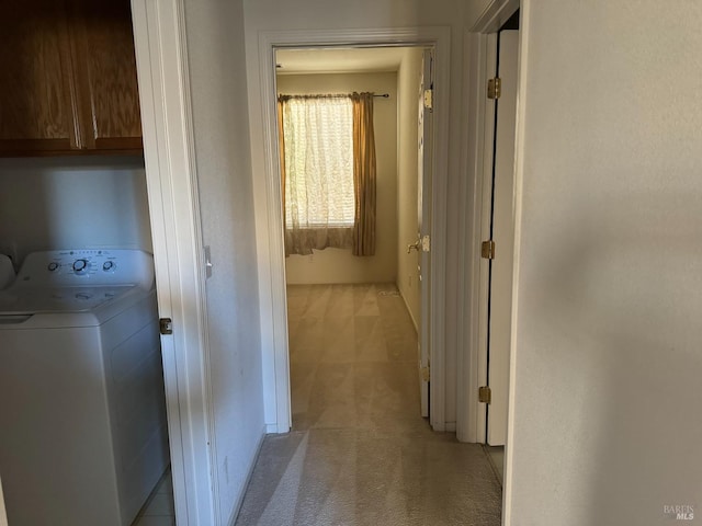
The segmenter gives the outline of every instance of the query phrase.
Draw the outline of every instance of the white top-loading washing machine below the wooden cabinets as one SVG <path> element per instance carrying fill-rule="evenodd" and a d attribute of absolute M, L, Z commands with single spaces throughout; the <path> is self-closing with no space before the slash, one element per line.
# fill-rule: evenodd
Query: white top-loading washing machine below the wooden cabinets
<path fill-rule="evenodd" d="M 0 290 L 9 524 L 127 526 L 168 462 L 151 256 L 27 255 Z"/>

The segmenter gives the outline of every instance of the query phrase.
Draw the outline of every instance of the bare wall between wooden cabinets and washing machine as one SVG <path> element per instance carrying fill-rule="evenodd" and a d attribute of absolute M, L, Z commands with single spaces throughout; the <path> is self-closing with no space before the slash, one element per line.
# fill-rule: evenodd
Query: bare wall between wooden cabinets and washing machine
<path fill-rule="evenodd" d="M 151 252 L 144 159 L 0 159 L 0 252 L 82 247 Z"/>

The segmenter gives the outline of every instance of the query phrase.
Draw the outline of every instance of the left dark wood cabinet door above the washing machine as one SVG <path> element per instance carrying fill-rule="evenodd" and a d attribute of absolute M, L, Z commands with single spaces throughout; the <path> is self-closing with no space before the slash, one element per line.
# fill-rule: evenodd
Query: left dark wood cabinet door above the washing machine
<path fill-rule="evenodd" d="M 78 148 L 65 4 L 0 0 L 0 155 Z"/>

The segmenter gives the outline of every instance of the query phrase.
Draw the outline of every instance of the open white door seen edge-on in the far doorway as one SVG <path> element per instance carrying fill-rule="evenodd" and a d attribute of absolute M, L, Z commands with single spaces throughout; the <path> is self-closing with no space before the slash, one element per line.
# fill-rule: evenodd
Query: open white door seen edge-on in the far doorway
<path fill-rule="evenodd" d="M 422 56 L 418 104 L 418 181 L 417 181 L 417 271 L 419 275 L 419 386 L 421 393 L 421 415 L 429 416 L 429 217 L 431 210 L 431 125 L 432 125 L 432 52 L 426 49 Z M 429 95 L 426 96 L 426 93 Z"/>

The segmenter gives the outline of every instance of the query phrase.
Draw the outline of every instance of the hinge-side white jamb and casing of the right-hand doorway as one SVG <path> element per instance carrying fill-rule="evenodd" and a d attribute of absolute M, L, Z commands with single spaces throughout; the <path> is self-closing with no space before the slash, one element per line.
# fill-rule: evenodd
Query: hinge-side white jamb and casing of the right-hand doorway
<path fill-rule="evenodd" d="M 489 225 L 495 124 L 495 104 L 487 99 L 486 87 L 490 68 L 495 70 L 495 34 L 519 8 L 520 0 L 492 0 L 473 27 L 464 33 L 464 53 L 468 66 L 465 71 L 468 93 L 468 184 L 465 185 L 463 197 L 473 213 L 466 217 L 466 250 L 462 260 L 466 274 L 460 284 L 461 311 L 465 313 L 465 322 L 461 324 L 458 333 L 460 348 L 465 351 L 458 353 L 457 363 L 456 436 L 461 442 L 484 443 L 486 436 L 486 407 L 478 401 L 478 388 L 487 380 L 488 273 L 486 265 L 480 264 L 480 242 L 487 239 L 485 229 L 486 224 Z M 514 235 L 517 237 L 517 232 Z"/>

